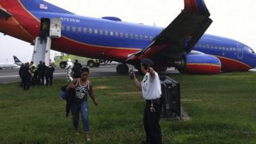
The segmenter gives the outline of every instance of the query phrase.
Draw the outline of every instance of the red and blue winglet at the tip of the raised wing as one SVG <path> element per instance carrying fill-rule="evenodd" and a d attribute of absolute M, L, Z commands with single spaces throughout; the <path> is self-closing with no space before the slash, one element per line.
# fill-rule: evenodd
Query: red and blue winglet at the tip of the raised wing
<path fill-rule="evenodd" d="M 184 0 L 184 12 L 210 16 L 204 0 Z"/>

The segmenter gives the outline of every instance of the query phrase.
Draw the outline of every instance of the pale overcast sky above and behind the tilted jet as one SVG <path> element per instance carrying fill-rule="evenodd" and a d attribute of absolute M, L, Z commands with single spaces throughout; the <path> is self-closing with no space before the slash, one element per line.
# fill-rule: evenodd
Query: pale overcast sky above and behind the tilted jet
<path fill-rule="evenodd" d="M 88 17 L 119 17 L 126 22 L 143 23 L 159 27 L 168 26 L 184 8 L 183 0 L 46 0 Z M 256 50 L 255 0 L 205 0 L 213 20 L 205 33 L 238 40 Z M 0 33 L 0 62 L 31 61 L 33 45 Z M 51 51 L 51 59 L 54 54 Z"/>

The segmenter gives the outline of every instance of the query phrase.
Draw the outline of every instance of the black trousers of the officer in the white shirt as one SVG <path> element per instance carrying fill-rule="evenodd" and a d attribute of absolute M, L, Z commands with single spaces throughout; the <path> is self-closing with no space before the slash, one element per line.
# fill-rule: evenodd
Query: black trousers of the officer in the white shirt
<path fill-rule="evenodd" d="M 161 127 L 159 125 L 160 115 L 161 115 L 161 102 L 160 100 L 154 100 L 153 107 L 156 112 L 150 111 L 151 101 L 147 100 L 145 110 L 144 110 L 144 129 L 146 132 L 146 141 L 150 144 L 161 144 Z"/>

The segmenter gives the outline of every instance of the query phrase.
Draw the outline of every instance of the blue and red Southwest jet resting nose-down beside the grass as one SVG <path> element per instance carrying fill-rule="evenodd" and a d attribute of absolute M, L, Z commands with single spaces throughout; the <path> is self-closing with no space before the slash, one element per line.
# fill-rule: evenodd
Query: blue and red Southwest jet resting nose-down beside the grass
<path fill-rule="evenodd" d="M 117 17 L 76 15 L 43 0 L 0 0 L 0 32 L 31 44 L 41 21 L 61 19 L 61 38 L 51 49 L 77 56 L 118 61 L 120 74 L 127 64 L 140 70 L 141 58 L 156 63 L 156 71 L 175 67 L 188 74 L 218 74 L 256 67 L 256 54 L 247 45 L 204 34 L 211 25 L 204 0 L 184 0 L 184 10 L 166 28 L 124 22 Z"/>

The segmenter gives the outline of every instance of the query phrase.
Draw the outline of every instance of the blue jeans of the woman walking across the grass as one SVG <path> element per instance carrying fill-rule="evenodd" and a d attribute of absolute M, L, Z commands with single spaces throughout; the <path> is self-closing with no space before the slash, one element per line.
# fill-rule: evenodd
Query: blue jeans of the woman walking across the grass
<path fill-rule="evenodd" d="M 82 102 L 81 104 L 73 103 L 71 104 L 71 113 L 73 117 L 73 124 L 75 129 L 78 129 L 79 124 L 79 111 L 81 111 L 82 122 L 84 125 L 84 132 L 89 133 L 89 104 L 87 101 Z"/>

